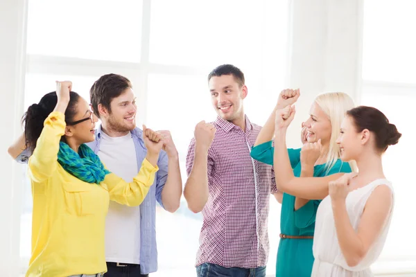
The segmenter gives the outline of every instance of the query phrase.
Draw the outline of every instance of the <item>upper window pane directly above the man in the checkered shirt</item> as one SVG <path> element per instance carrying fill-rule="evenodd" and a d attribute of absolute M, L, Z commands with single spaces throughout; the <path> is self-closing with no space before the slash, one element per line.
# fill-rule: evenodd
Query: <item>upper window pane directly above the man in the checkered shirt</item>
<path fill-rule="evenodd" d="M 261 66 L 286 46 L 286 1 L 155 0 L 151 10 L 150 62 Z"/>

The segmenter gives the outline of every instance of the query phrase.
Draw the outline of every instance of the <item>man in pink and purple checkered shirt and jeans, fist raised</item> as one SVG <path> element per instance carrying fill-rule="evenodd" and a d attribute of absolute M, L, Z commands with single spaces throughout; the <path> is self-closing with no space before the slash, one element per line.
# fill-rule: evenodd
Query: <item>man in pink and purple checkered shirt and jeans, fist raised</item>
<path fill-rule="evenodd" d="M 269 199 L 277 189 L 272 166 L 250 157 L 261 127 L 244 114 L 240 69 L 218 66 L 208 82 L 218 118 L 196 125 L 184 188 L 189 209 L 204 217 L 197 275 L 266 276 Z"/>

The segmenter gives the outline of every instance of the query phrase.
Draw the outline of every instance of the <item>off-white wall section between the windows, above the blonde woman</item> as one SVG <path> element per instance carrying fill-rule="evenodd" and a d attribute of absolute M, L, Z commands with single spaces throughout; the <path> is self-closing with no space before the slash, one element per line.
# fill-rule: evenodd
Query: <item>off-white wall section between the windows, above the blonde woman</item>
<path fill-rule="evenodd" d="M 293 0 L 288 51 L 288 87 L 300 88 L 290 134 L 306 120 L 313 99 L 329 91 L 359 100 L 362 0 Z"/>

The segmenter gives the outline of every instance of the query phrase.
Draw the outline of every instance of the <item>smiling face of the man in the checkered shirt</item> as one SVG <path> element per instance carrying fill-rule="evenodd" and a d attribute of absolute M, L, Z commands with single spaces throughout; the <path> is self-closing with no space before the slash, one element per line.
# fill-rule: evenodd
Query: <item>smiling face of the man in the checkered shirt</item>
<path fill-rule="evenodd" d="M 209 79 L 209 91 L 218 116 L 232 123 L 244 116 L 243 99 L 248 90 L 233 75 L 213 76 Z"/>

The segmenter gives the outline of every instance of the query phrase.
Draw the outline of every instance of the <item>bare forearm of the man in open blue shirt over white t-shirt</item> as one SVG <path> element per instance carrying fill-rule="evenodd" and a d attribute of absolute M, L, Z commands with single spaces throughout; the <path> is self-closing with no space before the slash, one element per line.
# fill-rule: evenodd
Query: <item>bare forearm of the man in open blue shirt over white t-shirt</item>
<path fill-rule="evenodd" d="M 168 178 L 162 190 L 162 203 L 166 211 L 175 213 L 180 206 L 182 177 L 177 152 L 168 156 Z"/>

